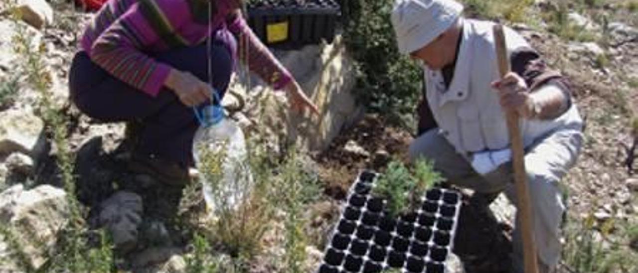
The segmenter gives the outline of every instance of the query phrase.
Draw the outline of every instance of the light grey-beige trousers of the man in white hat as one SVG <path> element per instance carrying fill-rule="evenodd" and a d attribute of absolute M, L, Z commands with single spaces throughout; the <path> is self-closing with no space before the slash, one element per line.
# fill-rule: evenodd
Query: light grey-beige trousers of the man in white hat
<path fill-rule="evenodd" d="M 559 183 L 574 165 L 581 145 L 582 131 L 577 126 L 553 131 L 526 149 L 525 167 L 541 272 L 553 272 L 560 260 L 561 223 L 565 204 Z M 438 129 L 431 129 L 415 139 L 410 145 L 409 154 L 412 160 L 424 157 L 434 161 L 434 168 L 456 186 L 479 193 L 504 192 L 511 202 L 516 203 L 510 163 L 503 164 L 486 175 L 479 175 L 468 163 L 468 159 L 456 153 Z M 514 229 L 513 244 L 514 272 L 523 272 L 523 249 L 517 227 Z"/>

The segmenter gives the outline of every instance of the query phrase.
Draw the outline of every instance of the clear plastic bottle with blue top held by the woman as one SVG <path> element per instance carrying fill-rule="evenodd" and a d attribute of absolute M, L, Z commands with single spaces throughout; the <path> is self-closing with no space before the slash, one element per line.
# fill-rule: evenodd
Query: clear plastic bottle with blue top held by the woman
<path fill-rule="evenodd" d="M 221 212 L 236 210 L 249 197 L 253 188 L 253 177 L 246 160 L 246 141 L 241 128 L 225 118 L 221 106 L 195 108 L 195 114 L 200 127 L 193 137 L 193 158 L 200 172 L 199 181 L 202 183 L 207 212 L 216 218 Z M 204 166 L 201 166 L 204 152 L 224 156 L 219 175 L 221 179 L 208 181 L 210 177 L 205 173 L 211 170 L 203 170 Z"/>

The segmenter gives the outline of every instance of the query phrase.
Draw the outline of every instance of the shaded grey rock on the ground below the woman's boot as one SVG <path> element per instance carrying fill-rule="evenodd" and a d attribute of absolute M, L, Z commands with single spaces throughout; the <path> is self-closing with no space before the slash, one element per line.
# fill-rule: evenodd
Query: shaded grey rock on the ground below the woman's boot
<path fill-rule="evenodd" d="M 100 226 L 107 228 L 122 253 L 137 246 L 142 211 L 142 198 L 128 191 L 118 191 L 100 204 Z"/>

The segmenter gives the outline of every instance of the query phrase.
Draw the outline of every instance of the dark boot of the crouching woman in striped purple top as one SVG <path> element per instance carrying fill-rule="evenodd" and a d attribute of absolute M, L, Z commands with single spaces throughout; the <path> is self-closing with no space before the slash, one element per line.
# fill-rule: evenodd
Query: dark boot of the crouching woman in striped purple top
<path fill-rule="evenodd" d="M 150 175 L 168 186 L 184 186 L 190 181 L 188 168 L 156 156 L 133 152 L 128 168 L 131 172 Z"/>

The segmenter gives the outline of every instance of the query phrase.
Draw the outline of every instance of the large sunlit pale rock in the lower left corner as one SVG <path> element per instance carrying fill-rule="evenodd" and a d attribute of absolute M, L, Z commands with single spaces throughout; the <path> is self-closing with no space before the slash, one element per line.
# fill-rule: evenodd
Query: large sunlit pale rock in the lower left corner
<path fill-rule="evenodd" d="M 29 191 L 17 184 L 0 193 L 0 222 L 16 236 L 27 262 L 34 268 L 45 261 L 46 253 L 54 246 L 57 232 L 69 218 L 66 193 L 50 185 Z"/>

